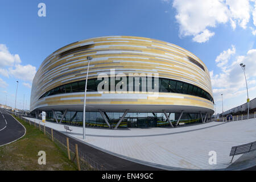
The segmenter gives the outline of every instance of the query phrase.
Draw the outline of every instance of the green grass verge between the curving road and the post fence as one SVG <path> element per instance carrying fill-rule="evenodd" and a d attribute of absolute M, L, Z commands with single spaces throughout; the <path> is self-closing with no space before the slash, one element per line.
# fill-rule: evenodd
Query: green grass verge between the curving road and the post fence
<path fill-rule="evenodd" d="M 42 131 L 21 119 L 16 119 L 26 127 L 26 135 L 14 143 L 0 147 L 0 170 L 77 170 L 75 163 L 68 160 L 65 152 Z M 46 165 L 38 164 L 39 151 L 46 152 Z"/>

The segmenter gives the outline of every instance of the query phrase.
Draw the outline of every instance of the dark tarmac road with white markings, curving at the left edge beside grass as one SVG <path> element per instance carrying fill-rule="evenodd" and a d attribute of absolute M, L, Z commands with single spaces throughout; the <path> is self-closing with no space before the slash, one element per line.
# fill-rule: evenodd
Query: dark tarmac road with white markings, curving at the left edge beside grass
<path fill-rule="evenodd" d="M 26 129 L 4 109 L 0 109 L 0 146 L 23 137 Z"/>

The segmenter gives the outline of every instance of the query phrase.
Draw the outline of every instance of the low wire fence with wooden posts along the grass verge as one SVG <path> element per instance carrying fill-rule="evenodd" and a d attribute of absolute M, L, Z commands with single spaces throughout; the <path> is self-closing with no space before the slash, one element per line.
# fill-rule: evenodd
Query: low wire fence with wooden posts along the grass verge
<path fill-rule="evenodd" d="M 14 114 L 14 113 L 10 113 Z M 27 122 L 31 126 L 38 128 L 42 131 L 48 138 L 53 140 L 55 144 L 65 153 L 65 155 L 72 160 L 77 165 L 77 168 L 82 171 L 106 171 L 113 170 L 113 168 L 108 167 L 108 169 L 104 166 L 104 164 L 97 163 L 96 160 L 90 158 L 86 155 L 86 152 L 82 151 L 77 147 L 77 142 L 74 139 L 69 138 L 67 135 L 60 133 L 59 131 L 53 130 L 45 125 L 40 125 L 30 119 L 26 119 L 23 117 L 23 114 L 16 113 L 16 117 L 22 119 L 24 122 Z M 33 118 L 31 118 L 33 120 Z M 77 150 L 76 150 L 77 148 Z"/>

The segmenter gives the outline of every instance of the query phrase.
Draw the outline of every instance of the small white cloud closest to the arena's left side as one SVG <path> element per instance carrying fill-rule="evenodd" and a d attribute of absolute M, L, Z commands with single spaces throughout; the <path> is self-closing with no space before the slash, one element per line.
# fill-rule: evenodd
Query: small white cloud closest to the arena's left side
<path fill-rule="evenodd" d="M 9 69 L 10 75 L 14 76 L 15 78 L 19 78 L 24 81 L 33 81 L 33 78 L 36 73 L 36 67 L 28 64 L 28 65 L 15 65 L 15 69 Z"/>

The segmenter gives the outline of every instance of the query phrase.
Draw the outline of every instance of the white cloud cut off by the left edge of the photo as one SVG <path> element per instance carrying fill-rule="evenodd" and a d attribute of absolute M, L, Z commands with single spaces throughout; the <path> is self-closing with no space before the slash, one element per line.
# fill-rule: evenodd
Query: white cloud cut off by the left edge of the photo
<path fill-rule="evenodd" d="M 12 55 L 5 44 L 0 44 L 0 68 L 21 63 L 19 55 Z"/>

